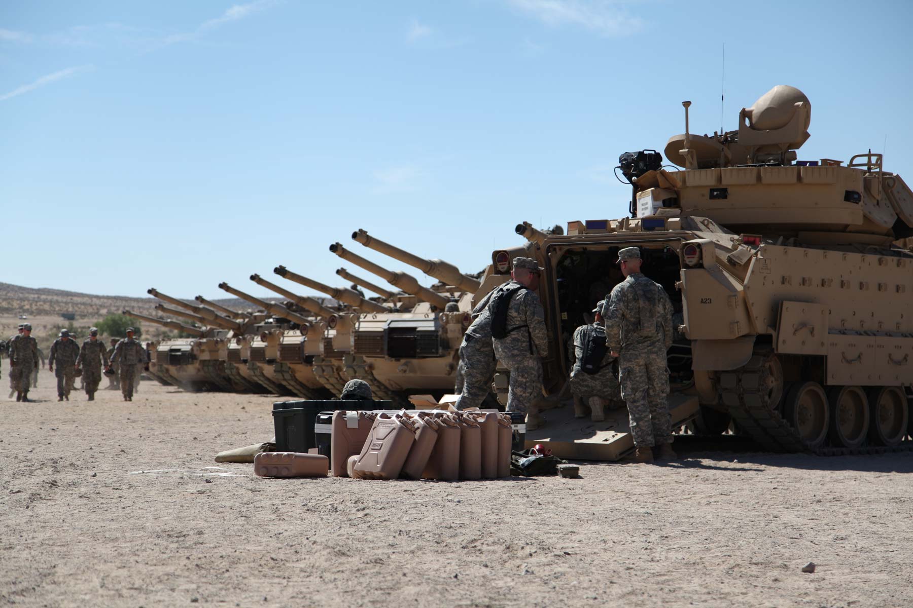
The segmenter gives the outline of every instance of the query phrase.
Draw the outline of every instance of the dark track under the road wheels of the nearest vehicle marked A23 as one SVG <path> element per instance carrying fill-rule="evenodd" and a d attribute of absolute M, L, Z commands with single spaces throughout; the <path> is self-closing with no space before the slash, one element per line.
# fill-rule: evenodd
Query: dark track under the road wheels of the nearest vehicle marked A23
<path fill-rule="evenodd" d="M 740 430 L 772 452 L 808 452 L 818 456 L 864 456 L 913 451 L 913 438 L 897 446 L 831 448 L 806 446 L 794 428 L 777 411 L 779 404 L 766 403 L 763 395 L 763 364 L 770 353 L 755 352 L 740 369 L 719 374 L 719 395 Z"/>

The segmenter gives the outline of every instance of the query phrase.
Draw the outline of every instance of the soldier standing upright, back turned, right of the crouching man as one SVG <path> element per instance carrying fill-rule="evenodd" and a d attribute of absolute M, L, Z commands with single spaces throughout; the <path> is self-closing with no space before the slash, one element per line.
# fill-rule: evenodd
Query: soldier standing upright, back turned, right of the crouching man
<path fill-rule="evenodd" d="M 631 419 L 635 462 L 676 459 L 666 397 L 666 351 L 672 345 L 672 303 L 666 290 L 640 272 L 640 250 L 626 247 L 618 262 L 626 277 L 603 303 L 606 345 L 618 356 L 622 398 Z"/>

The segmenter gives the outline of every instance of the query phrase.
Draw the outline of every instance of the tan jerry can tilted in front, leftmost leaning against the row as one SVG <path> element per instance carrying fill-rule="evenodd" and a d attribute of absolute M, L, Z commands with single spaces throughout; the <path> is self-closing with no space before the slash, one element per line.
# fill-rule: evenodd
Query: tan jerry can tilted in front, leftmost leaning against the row
<path fill-rule="evenodd" d="M 352 471 L 362 479 L 396 479 L 415 442 L 415 422 L 405 412 L 377 415 Z"/>

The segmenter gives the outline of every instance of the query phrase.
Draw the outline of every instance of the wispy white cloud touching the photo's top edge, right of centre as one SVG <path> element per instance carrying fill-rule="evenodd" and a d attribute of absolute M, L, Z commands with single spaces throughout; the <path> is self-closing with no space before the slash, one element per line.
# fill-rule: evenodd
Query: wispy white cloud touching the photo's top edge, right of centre
<path fill-rule="evenodd" d="M 612 0 L 507 0 L 520 12 L 547 26 L 582 26 L 603 36 L 624 36 L 643 26 Z"/>

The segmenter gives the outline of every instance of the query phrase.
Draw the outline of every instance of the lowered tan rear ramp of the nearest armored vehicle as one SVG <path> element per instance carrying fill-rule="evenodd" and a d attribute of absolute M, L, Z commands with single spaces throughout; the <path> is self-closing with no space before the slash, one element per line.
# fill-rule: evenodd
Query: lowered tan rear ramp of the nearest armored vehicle
<path fill-rule="evenodd" d="M 698 415 L 698 397 L 669 395 L 668 405 L 672 428 Z M 634 448 L 626 407 L 607 410 L 603 422 L 573 417 L 572 405 L 547 410 L 542 417 L 546 423 L 526 434 L 527 448 L 540 443 L 562 459 L 609 461 L 621 459 Z"/>

